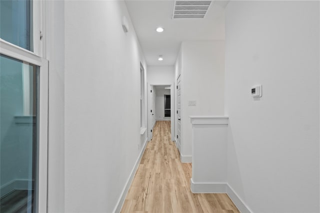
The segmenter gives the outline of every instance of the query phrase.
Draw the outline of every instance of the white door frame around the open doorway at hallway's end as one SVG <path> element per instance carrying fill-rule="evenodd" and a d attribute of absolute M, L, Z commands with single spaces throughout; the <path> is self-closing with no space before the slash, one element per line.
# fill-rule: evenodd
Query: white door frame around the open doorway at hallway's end
<path fill-rule="evenodd" d="M 174 135 L 175 135 L 175 128 L 174 128 L 174 122 L 175 122 L 175 116 L 174 116 L 174 85 L 175 85 L 175 83 L 174 82 L 172 82 L 172 83 L 170 83 L 170 84 L 149 84 L 149 83 L 147 83 L 147 87 L 148 87 L 148 95 L 147 95 L 147 103 L 148 103 L 148 105 L 147 105 L 147 110 L 148 110 L 148 113 L 147 113 L 147 116 L 148 116 L 148 118 L 147 118 L 147 122 L 148 122 L 148 125 L 147 125 L 147 131 L 148 131 L 148 141 L 150 141 L 150 132 L 151 132 L 151 129 L 153 128 L 153 127 L 151 127 L 151 125 L 149 125 L 149 122 L 150 122 L 150 118 L 149 118 L 149 116 L 150 116 L 150 102 L 149 101 L 151 101 L 151 100 L 149 100 L 150 99 L 150 86 L 170 86 L 170 108 L 171 108 L 171 117 L 170 117 L 170 121 L 171 121 L 171 141 L 175 141 L 175 137 L 174 137 Z M 173 116 L 172 116 L 173 115 Z M 152 121 L 152 119 L 151 119 L 151 121 Z"/>

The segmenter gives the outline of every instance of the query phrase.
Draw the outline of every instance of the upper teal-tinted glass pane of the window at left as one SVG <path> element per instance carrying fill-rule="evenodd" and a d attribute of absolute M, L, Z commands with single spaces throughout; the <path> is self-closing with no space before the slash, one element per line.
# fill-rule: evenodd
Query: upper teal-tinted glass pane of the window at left
<path fill-rule="evenodd" d="M 0 0 L 0 37 L 33 51 L 32 0 Z"/>

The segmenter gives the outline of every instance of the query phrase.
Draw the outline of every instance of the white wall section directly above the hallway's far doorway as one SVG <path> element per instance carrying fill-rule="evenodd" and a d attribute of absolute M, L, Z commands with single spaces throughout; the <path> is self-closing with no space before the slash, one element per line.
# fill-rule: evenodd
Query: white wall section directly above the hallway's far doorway
<path fill-rule="evenodd" d="M 147 81 L 151 85 L 172 84 L 174 81 L 174 67 L 148 66 Z"/>

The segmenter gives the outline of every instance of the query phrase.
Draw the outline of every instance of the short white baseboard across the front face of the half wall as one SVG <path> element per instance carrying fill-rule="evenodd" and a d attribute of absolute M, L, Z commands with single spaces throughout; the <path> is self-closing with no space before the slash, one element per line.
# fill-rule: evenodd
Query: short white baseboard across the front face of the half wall
<path fill-rule="evenodd" d="M 191 178 L 192 193 L 226 193 L 226 183 L 194 183 Z"/>

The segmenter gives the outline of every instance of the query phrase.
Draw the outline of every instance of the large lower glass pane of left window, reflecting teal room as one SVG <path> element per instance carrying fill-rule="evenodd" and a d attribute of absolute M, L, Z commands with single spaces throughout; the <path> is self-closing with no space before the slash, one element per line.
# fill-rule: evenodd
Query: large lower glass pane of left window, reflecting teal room
<path fill-rule="evenodd" d="M 0 212 L 37 207 L 39 67 L 0 55 Z"/>

